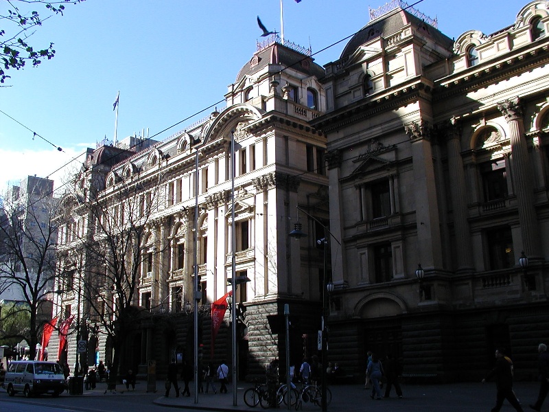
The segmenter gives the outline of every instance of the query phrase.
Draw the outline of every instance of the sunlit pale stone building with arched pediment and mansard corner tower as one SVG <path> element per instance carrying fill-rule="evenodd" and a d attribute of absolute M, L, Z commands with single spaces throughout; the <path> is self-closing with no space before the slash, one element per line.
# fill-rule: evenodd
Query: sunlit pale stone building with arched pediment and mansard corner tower
<path fill-rule="evenodd" d="M 86 234 L 97 237 L 97 225 L 105 225 L 109 219 L 128 220 L 136 199 L 141 220 L 135 220 L 135 225 L 145 232 L 139 244 L 142 253 L 132 298 L 140 315 L 124 345 L 121 370 L 154 359 L 161 374 L 172 357 L 192 361 L 193 326 L 187 302 L 192 303 L 196 296 L 195 257 L 200 278 L 200 356 L 214 363 L 231 358 L 229 311 L 212 347 L 209 310 L 230 290 L 233 229 L 235 275 L 249 279 L 237 287 L 233 299 L 239 322 L 239 378 L 263 375 L 264 365 L 284 353 L 284 337 L 279 335 L 284 304 L 289 303 L 292 313 L 300 316 L 294 322 L 290 343 L 296 361 L 304 350 L 316 347 L 316 336 L 305 347 L 302 336 L 316 334 L 319 328 L 322 253 L 300 249 L 300 243 L 288 233 L 298 217 L 297 205 L 319 220 L 328 218 L 326 139 L 307 123 L 325 110 L 325 93 L 318 82 L 323 76 L 324 70 L 313 62 L 309 50 L 270 38 L 258 45 L 229 86 L 226 108 L 216 109 L 143 150 L 139 150 L 139 141 L 127 149 L 102 146 L 89 150 L 75 179 L 75 190 L 63 199 L 70 219 L 60 224 L 64 258 L 60 262 L 61 293 L 56 297 L 60 319 L 77 312 L 82 318 L 84 314 L 80 337 L 87 339 L 89 347 L 84 363 L 112 361 L 113 350 L 103 333 L 104 318 L 91 308 L 93 304 L 78 299 L 78 290 L 93 282 L 90 274 L 97 275 L 98 266 L 91 263 L 90 251 L 79 240 Z M 231 150 L 233 137 L 235 149 Z M 128 187 L 132 190 L 127 191 Z M 91 202 L 110 202 L 106 220 L 91 216 L 89 208 L 82 207 Z M 314 230 L 314 225 L 310 229 Z M 314 238 L 309 242 L 316 244 Z M 134 256 L 135 250 L 128 253 Z M 300 263 L 300 255 L 306 265 Z M 131 262 L 126 264 L 129 267 Z M 104 285 L 106 291 L 101 296 L 106 304 L 115 306 L 116 291 L 111 290 L 118 286 L 110 283 Z M 75 339 L 75 334 L 69 336 L 67 352 L 62 355 L 69 364 L 76 356 Z M 51 342 L 53 353 L 58 343 L 55 339 Z"/>

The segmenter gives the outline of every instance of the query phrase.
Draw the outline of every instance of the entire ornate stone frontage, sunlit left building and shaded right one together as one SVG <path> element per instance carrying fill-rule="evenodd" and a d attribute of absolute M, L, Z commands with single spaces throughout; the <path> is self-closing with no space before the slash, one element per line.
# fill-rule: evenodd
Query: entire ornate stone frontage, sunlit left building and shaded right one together
<path fill-rule="evenodd" d="M 249 279 L 233 305 L 239 378 L 285 358 L 284 304 L 292 361 L 319 352 L 327 281 L 325 361 L 357 380 L 367 350 L 397 356 L 408 376 L 469 380 L 496 346 L 520 365 L 517 377 L 535 377 L 549 321 L 547 2 L 509 23 L 454 41 L 392 1 L 324 69 L 270 39 L 225 108 L 150 147 L 90 150 L 64 199 L 72 220 L 60 225 L 60 273 L 91 281 L 77 242 L 95 230 L 79 206 L 91 194 L 110 199 L 112 216 L 136 199 L 148 211 L 132 297 L 140 316 L 122 365 L 154 359 L 162 373 L 172 357 L 190 360 L 194 299 L 200 358 L 229 359 L 228 314 L 213 341 L 210 309 L 237 276 Z M 308 235 L 298 242 L 295 223 Z M 56 297 L 60 318 L 90 313 L 74 290 Z M 82 322 L 88 364 L 113 357 L 100 323 Z"/>

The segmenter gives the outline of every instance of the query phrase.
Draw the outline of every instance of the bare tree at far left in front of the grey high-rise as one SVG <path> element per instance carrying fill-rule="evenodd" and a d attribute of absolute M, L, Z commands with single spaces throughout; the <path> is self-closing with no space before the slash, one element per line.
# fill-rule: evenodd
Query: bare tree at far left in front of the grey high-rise
<path fill-rule="evenodd" d="M 28 327 L 18 333 L 12 329 L 10 337 L 25 339 L 34 358 L 43 325 L 51 317 L 47 293 L 56 273 L 58 201 L 51 196 L 52 181 L 30 177 L 27 183 L 1 202 L 0 292 L 18 303 L 12 310 L 27 313 Z"/>

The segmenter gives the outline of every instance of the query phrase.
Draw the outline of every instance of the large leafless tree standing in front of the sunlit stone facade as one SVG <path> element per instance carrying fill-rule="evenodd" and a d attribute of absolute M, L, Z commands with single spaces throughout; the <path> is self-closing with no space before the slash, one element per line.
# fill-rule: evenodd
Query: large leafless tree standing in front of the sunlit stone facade
<path fill-rule="evenodd" d="M 110 387 L 117 381 L 126 339 L 145 310 L 139 306 L 141 275 L 161 255 L 150 250 L 149 233 L 155 211 L 163 207 L 163 189 L 161 172 L 148 185 L 135 174 L 108 190 L 91 190 L 83 201 L 65 207 L 73 220 L 80 216 L 83 226 L 73 225 L 67 232 L 71 242 L 60 247 L 60 262 L 76 268 L 74 288 L 82 296 L 82 313 L 113 345 Z M 82 194 L 75 193 L 67 196 L 65 205 L 69 197 L 82 200 Z"/>

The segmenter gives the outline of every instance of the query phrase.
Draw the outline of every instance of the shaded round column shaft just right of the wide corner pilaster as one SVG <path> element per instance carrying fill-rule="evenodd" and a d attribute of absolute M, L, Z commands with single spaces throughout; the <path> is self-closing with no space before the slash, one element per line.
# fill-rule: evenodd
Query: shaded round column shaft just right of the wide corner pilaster
<path fill-rule="evenodd" d="M 469 236 L 469 223 L 467 222 L 467 185 L 465 185 L 463 159 L 460 154 L 460 135 L 459 128 L 454 124 L 448 128 L 448 170 L 450 193 L 452 194 L 452 210 L 454 211 L 456 265 L 458 271 L 473 267 L 471 262 L 471 237 Z"/>

